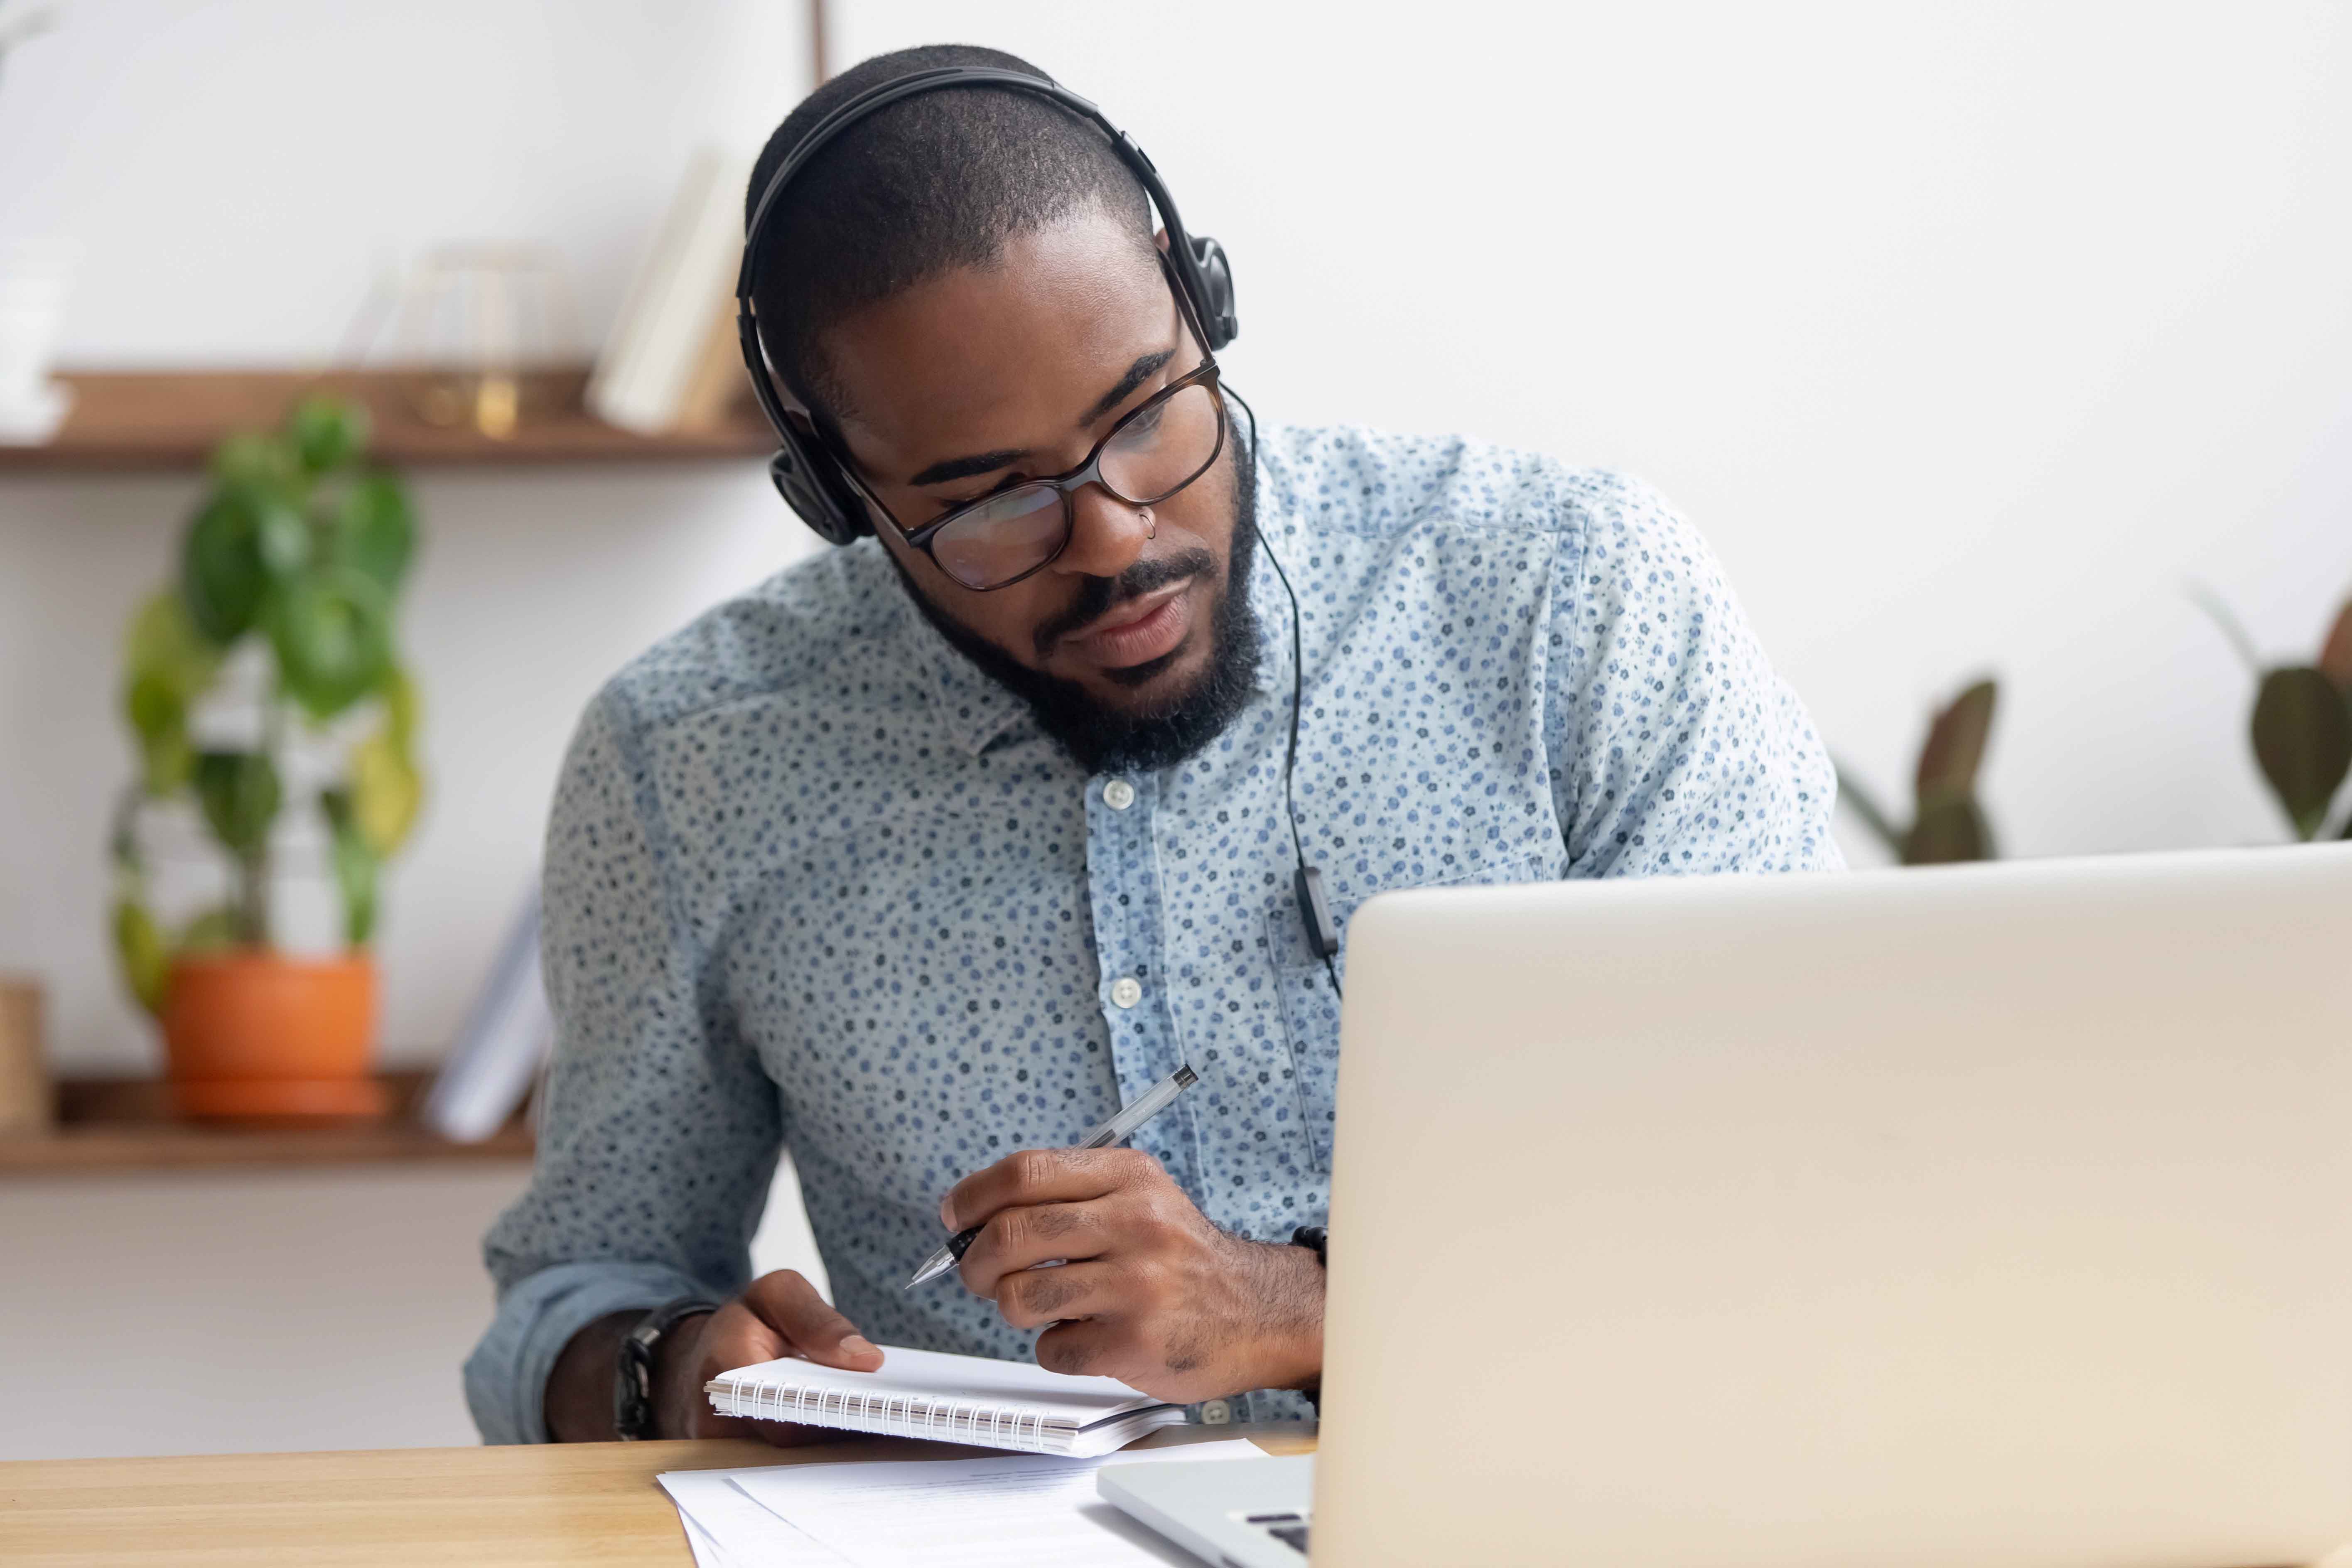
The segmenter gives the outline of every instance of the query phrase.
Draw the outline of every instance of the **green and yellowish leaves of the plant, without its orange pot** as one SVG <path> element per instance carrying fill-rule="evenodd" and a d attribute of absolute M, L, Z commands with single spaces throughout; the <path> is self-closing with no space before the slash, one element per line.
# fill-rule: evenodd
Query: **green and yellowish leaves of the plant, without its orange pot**
<path fill-rule="evenodd" d="M 423 778 L 416 686 L 393 646 L 416 520 L 400 480 L 365 461 L 367 437 L 365 409 L 313 397 L 275 433 L 221 442 L 176 581 L 132 616 L 122 710 L 141 776 L 115 813 L 113 933 L 148 1011 L 176 959 L 273 945 L 270 832 L 287 778 L 315 785 L 346 947 L 374 933 L 379 872 L 416 820 Z M 242 708 L 238 665 L 256 693 Z M 148 900 L 139 835 L 141 809 L 165 802 L 193 802 L 230 867 L 230 896 L 176 931 Z"/>

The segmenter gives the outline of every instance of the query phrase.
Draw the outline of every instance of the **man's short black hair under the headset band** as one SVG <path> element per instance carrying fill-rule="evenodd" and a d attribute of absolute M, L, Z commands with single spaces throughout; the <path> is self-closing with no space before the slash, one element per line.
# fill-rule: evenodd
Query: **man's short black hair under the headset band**
<path fill-rule="evenodd" d="M 1051 82 L 1002 49 L 922 45 L 877 54 L 800 101 L 753 165 L 743 221 L 818 120 L 851 96 L 936 66 L 993 66 Z M 1087 207 L 1120 219 L 1145 254 L 1150 197 L 1103 132 L 1004 87 L 915 94 L 842 132 L 779 197 L 760 235 L 753 303 L 783 383 L 821 421 L 842 414 L 821 334 L 851 310 L 955 268 L 988 266 L 1014 235 Z"/>

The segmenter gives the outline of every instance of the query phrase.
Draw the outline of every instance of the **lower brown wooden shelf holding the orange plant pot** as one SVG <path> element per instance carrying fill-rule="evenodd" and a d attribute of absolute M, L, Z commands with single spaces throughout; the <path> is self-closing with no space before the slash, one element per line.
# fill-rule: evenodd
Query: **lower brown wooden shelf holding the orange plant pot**
<path fill-rule="evenodd" d="M 360 1166 L 513 1161 L 532 1157 L 517 1117 L 485 1143 L 449 1143 L 416 1124 L 430 1074 L 386 1072 L 393 1117 L 336 1126 L 221 1126 L 172 1117 L 160 1079 L 66 1079 L 56 1131 L 0 1138 L 0 1178 L 59 1171 L 165 1171 L 186 1166 Z"/>

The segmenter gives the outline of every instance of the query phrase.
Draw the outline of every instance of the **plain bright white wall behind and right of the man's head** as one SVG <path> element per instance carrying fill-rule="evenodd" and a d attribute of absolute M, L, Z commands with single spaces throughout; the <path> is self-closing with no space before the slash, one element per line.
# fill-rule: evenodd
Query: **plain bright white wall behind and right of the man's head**
<path fill-rule="evenodd" d="M 2004 677 L 2011 849 L 2272 842 L 2251 682 L 2352 592 L 2340 5 L 851 5 L 1103 103 L 1235 259 L 1268 418 L 1609 463 L 1907 778 Z"/>

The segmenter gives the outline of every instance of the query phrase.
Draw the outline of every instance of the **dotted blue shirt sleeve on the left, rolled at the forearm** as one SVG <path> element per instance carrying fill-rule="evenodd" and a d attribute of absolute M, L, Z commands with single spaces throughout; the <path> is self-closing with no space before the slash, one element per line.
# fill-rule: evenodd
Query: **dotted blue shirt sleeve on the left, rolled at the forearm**
<path fill-rule="evenodd" d="M 607 686 L 548 823 L 539 1159 L 482 1241 L 499 1309 L 466 1361 L 466 1403 L 489 1443 L 548 1441 L 548 1373 L 586 1324 L 727 1298 L 750 1276 L 781 1112 L 708 961 L 724 912 L 694 907 L 673 875 L 659 766 L 661 736 Z"/>

